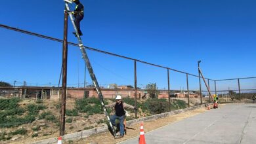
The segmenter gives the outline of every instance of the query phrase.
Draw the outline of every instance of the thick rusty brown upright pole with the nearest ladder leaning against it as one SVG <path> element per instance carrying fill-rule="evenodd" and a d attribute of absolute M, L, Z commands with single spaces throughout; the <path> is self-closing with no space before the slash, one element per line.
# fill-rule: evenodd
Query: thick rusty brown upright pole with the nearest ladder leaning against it
<path fill-rule="evenodd" d="M 64 12 L 64 41 L 62 50 L 62 98 L 60 112 L 60 135 L 65 134 L 65 115 L 66 115 L 66 86 L 67 86 L 67 61 L 68 61 L 68 12 Z"/>

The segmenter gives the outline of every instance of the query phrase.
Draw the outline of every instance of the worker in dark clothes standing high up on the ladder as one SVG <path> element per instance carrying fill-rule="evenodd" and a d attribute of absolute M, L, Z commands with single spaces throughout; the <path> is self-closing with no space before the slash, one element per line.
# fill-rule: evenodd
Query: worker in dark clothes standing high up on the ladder
<path fill-rule="evenodd" d="M 79 0 L 73 0 L 73 2 L 76 4 L 76 6 L 75 6 L 75 10 L 72 12 L 72 14 L 75 17 L 74 22 L 75 22 L 75 26 L 77 28 L 78 35 L 81 36 L 81 35 L 83 35 L 83 33 L 81 32 L 81 29 L 80 29 L 80 22 L 81 22 L 81 20 L 83 20 L 83 4 L 81 4 Z M 75 32 L 73 32 L 73 34 L 76 36 Z"/>

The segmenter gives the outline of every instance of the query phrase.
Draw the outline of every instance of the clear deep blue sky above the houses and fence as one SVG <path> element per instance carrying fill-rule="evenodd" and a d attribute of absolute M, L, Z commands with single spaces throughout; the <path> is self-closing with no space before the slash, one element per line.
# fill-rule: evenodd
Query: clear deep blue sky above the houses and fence
<path fill-rule="evenodd" d="M 84 45 L 205 77 L 255 77 L 255 0 L 81 0 Z M 63 38 L 62 0 L 1 1 L 0 24 Z M 74 5 L 72 6 L 74 9 Z M 68 41 L 77 43 L 69 22 Z M 0 28 L 0 81 L 58 84 L 62 43 Z M 83 86 L 79 48 L 68 47 L 68 85 Z M 134 84 L 133 62 L 87 50 L 98 82 Z M 137 63 L 138 86 L 167 88 L 167 70 Z M 91 79 L 87 73 L 87 82 Z M 198 79 L 189 77 L 191 88 Z M 186 75 L 170 73 L 172 88 L 186 87 Z M 256 79 L 242 82 L 256 88 Z M 236 87 L 236 82 L 234 82 Z M 211 85 L 211 84 L 210 84 Z M 231 86 L 232 87 L 232 86 Z"/>

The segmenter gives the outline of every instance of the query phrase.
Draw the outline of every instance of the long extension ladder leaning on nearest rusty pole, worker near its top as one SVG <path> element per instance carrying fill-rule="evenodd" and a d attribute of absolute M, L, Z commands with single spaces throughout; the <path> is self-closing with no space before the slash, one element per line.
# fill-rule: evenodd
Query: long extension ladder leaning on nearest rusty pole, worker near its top
<path fill-rule="evenodd" d="M 69 16 L 70 16 L 70 20 L 74 26 L 74 29 L 75 29 L 75 33 L 76 33 L 76 37 L 77 37 L 77 40 L 78 40 L 78 46 L 81 50 L 81 53 L 83 55 L 83 60 L 85 60 L 85 63 L 87 65 L 87 69 L 90 73 L 90 76 L 91 76 L 91 79 L 93 81 L 93 84 L 96 88 L 96 91 L 97 91 L 97 94 L 98 94 L 98 98 L 100 99 L 100 103 L 101 103 L 101 106 L 102 108 L 104 109 L 104 114 L 105 116 L 108 118 L 108 121 L 109 121 L 109 124 L 110 124 L 110 128 L 112 130 L 112 133 L 114 135 L 114 137 L 117 137 L 116 135 L 116 129 L 114 128 L 114 126 L 112 125 L 111 121 L 110 121 L 110 116 L 108 115 L 108 111 L 106 110 L 106 107 L 105 107 L 105 104 L 104 104 L 104 101 L 103 101 L 103 95 L 102 95 L 102 92 L 100 90 L 100 86 L 98 85 L 98 81 L 95 77 L 95 74 L 93 73 L 93 67 L 91 67 L 91 63 L 89 61 L 89 58 L 85 52 L 85 47 L 83 46 L 83 43 L 82 43 L 82 40 L 81 40 L 81 37 L 80 35 L 78 34 L 78 31 L 77 31 L 77 27 L 75 26 L 75 22 L 74 22 L 74 18 L 72 16 L 72 13 L 70 11 L 70 7 L 68 6 L 68 3 L 72 3 L 71 1 L 68 1 L 68 0 L 64 0 L 65 1 L 65 5 L 66 5 L 66 12 L 68 12 Z"/>

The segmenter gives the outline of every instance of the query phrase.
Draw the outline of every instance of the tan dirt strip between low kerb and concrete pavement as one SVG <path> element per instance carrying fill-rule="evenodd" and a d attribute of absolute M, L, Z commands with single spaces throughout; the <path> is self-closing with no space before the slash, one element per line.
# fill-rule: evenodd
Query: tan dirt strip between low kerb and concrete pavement
<path fill-rule="evenodd" d="M 173 122 L 177 122 L 184 118 L 192 117 L 194 115 L 198 115 L 207 111 L 205 108 L 196 109 L 193 111 L 188 111 L 185 113 L 180 113 L 178 115 L 172 115 L 165 118 L 160 118 L 158 120 L 151 120 L 144 122 L 144 132 L 150 132 L 162 126 L 166 126 L 168 124 L 172 124 Z M 140 124 L 135 124 L 134 126 L 129 126 L 127 128 L 127 135 L 125 135 L 121 139 L 114 139 L 114 137 L 110 134 L 110 132 L 105 132 L 102 134 L 92 135 L 91 137 L 87 137 L 85 139 L 80 139 L 77 141 L 67 141 L 66 143 L 91 143 L 91 144 L 100 144 L 100 143 L 119 143 L 121 141 L 125 141 L 127 139 L 131 139 L 133 137 L 137 137 L 140 134 Z"/>

